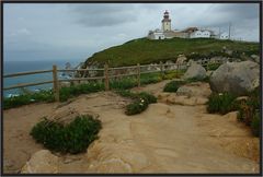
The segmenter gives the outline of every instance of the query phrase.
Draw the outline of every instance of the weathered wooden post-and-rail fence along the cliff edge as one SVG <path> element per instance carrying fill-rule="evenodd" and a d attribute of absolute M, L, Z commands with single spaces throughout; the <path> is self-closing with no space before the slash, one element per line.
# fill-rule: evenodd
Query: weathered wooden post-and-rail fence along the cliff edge
<path fill-rule="evenodd" d="M 208 66 L 209 63 L 202 63 L 204 67 Z M 142 71 L 141 68 L 156 68 L 155 70 L 147 70 Z M 181 70 L 181 69 L 186 69 L 188 66 L 186 63 L 183 64 L 178 64 L 178 63 L 160 63 L 160 64 L 146 64 L 146 66 L 140 66 L 139 63 L 137 66 L 132 66 L 132 67 L 119 67 L 119 68 L 108 68 L 107 64 L 104 66 L 104 69 L 57 69 L 57 66 L 53 66 L 53 70 L 38 70 L 38 71 L 30 71 L 30 72 L 19 72 L 19 73 L 12 73 L 12 74 L 5 74 L 3 78 L 14 78 L 14 76 L 23 76 L 23 75 L 28 75 L 28 74 L 39 74 L 39 73 L 47 73 L 52 72 L 53 73 L 53 80 L 49 81 L 42 81 L 42 82 L 34 82 L 34 83 L 20 83 L 16 85 L 3 87 L 4 91 L 7 90 L 13 90 L 13 88 L 19 88 L 19 87 L 27 87 L 27 86 L 34 86 L 34 85 L 43 85 L 43 84 L 48 84 L 53 83 L 53 90 L 55 94 L 55 99 L 59 102 L 59 87 L 60 87 L 60 82 L 70 82 L 70 81 L 91 81 L 91 80 L 104 80 L 105 84 L 105 91 L 110 90 L 110 80 L 113 78 L 119 78 L 119 76 L 132 76 L 132 75 L 137 75 L 137 85 L 140 86 L 140 74 L 144 73 L 153 73 L 153 72 L 161 72 L 161 74 L 164 74 L 165 71 L 169 70 Z M 158 70 L 159 68 L 159 70 Z M 124 74 L 108 74 L 110 71 L 116 71 L 116 70 L 125 70 L 127 71 L 128 69 L 134 69 L 134 73 L 124 73 Z M 104 75 L 103 76 L 88 76 L 88 78 L 72 78 L 72 79 L 58 79 L 58 72 L 87 72 L 87 71 L 103 71 Z"/>

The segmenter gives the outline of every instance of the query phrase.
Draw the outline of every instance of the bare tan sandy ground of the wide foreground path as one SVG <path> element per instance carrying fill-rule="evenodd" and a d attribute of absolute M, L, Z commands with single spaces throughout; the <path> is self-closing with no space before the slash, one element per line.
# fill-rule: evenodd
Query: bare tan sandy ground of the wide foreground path
<path fill-rule="evenodd" d="M 158 94 L 169 81 L 134 91 Z M 128 99 L 112 92 L 81 95 L 68 104 L 35 104 L 3 111 L 4 173 L 19 173 L 42 150 L 30 137 L 43 116 L 75 109 L 100 115 L 100 139 L 87 153 L 59 155 L 58 173 L 259 173 L 259 139 L 236 113 L 209 115 L 205 105 L 151 104 L 126 116 Z"/>

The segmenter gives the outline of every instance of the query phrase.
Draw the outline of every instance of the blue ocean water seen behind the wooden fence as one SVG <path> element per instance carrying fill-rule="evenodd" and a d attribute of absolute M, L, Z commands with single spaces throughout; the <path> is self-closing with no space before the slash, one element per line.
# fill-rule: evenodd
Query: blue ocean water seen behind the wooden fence
<path fill-rule="evenodd" d="M 3 75 L 9 73 L 25 72 L 25 71 L 36 71 L 36 70 L 52 70 L 53 64 L 56 64 L 58 69 L 65 69 L 66 63 L 69 62 L 72 68 L 77 67 L 81 60 L 44 60 L 44 61 L 4 61 L 3 62 Z M 32 82 L 42 82 L 53 80 L 53 73 L 41 73 L 41 74 L 31 74 L 22 75 L 14 78 L 2 78 L 3 87 L 16 85 L 20 83 L 32 83 Z M 36 90 L 48 90 L 52 88 L 53 84 L 44 84 L 36 86 L 28 86 L 30 91 Z M 3 96 L 9 97 L 11 95 L 21 94 L 21 88 L 3 91 Z"/>

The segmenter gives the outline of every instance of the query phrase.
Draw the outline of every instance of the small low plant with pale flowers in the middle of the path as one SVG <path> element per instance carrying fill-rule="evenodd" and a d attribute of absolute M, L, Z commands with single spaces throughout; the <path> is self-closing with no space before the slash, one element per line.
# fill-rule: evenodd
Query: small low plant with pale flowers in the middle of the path
<path fill-rule="evenodd" d="M 132 104 L 126 106 L 125 114 L 128 116 L 140 114 L 147 109 L 149 104 L 157 103 L 157 97 L 146 92 L 133 93 L 130 91 L 119 90 L 116 91 L 116 93 L 123 97 L 134 99 Z"/>

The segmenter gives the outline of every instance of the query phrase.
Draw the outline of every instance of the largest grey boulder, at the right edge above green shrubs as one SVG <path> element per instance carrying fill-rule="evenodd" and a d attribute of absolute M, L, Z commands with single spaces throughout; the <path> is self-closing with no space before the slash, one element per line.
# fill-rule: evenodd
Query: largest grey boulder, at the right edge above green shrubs
<path fill-rule="evenodd" d="M 245 95 L 260 85 L 260 66 L 253 61 L 221 64 L 210 76 L 210 87 L 216 92 Z"/>

